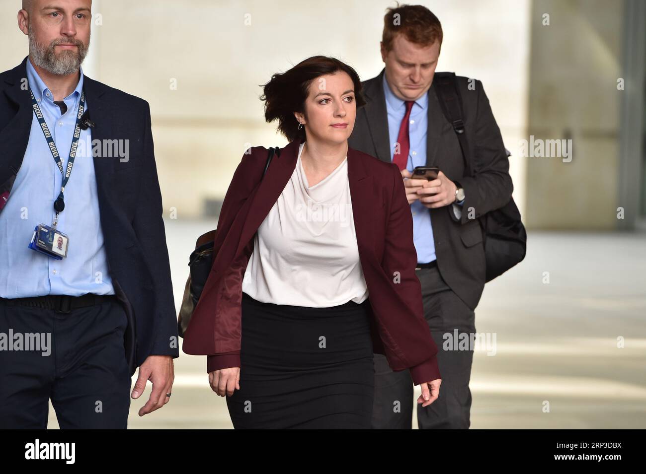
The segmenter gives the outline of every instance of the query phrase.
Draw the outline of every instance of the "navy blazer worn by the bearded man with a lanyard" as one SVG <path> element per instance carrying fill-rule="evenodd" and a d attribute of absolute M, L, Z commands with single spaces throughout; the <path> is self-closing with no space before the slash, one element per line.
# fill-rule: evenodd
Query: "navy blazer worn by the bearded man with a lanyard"
<path fill-rule="evenodd" d="M 29 91 L 21 87 L 26 60 L 0 74 L 0 186 L 5 188 L 12 187 L 23 163 L 34 116 Z M 130 142 L 129 161 L 94 157 L 94 170 L 110 277 L 129 317 L 125 353 L 132 374 L 149 355 L 180 355 L 151 112 L 143 99 L 87 75 L 83 84 L 96 123 L 92 141 Z"/>

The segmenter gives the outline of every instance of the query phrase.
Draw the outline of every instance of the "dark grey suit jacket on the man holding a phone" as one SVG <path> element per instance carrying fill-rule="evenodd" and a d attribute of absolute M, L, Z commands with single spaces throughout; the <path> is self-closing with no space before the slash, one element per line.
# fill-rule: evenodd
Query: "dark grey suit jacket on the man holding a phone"
<path fill-rule="evenodd" d="M 384 71 L 362 83 L 367 104 L 357 111 L 349 144 L 390 163 L 392 147 L 388 143 L 388 115 L 382 82 Z M 467 81 L 466 77 L 457 77 L 463 98 L 465 133 L 479 173 L 476 177 L 464 176 L 460 144 L 452 125 L 442 113 L 434 84 L 428 90 L 426 166 L 439 168 L 464 188 L 466 199 L 460 222 L 452 219 L 452 206 L 430 209 L 429 212 L 439 271 L 451 289 L 474 309 L 485 287 L 485 250 L 478 221 L 469 219 L 468 210 L 473 208 L 477 218 L 501 208 L 511 199 L 513 186 L 503 139 L 483 85 L 475 81 L 474 90 L 468 90 Z"/>

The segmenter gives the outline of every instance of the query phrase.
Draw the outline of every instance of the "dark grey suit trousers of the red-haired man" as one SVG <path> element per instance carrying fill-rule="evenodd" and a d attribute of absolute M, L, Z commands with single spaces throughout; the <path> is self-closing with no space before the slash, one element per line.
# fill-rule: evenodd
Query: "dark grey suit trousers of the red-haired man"
<path fill-rule="evenodd" d="M 468 429 L 471 410 L 469 379 L 474 353 L 472 348 L 445 350 L 444 346 L 455 339 L 455 330 L 458 335 L 475 333 L 475 313 L 453 293 L 437 268 L 422 268 L 416 273 L 422 286 L 424 317 L 438 349 L 437 360 L 442 375 L 440 394 L 435 402 L 422 408 L 413 400 L 410 371 L 393 372 L 384 355 L 374 354 L 372 428 L 410 430 L 415 404 L 417 424 L 421 430 Z M 450 334 L 448 342 L 444 340 L 447 333 Z M 453 345 L 452 342 L 450 347 Z"/>

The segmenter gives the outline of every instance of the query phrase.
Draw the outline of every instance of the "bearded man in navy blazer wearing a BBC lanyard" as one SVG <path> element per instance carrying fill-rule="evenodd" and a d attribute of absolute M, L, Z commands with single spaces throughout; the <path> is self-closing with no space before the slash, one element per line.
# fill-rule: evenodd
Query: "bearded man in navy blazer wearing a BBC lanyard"
<path fill-rule="evenodd" d="M 179 357 L 150 108 L 83 74 L 91 0 L 22 6 L 29 55 L 0 74 L 0 428 L 46 428 L 48 399 L 61 428 L 127 428 Z"/>

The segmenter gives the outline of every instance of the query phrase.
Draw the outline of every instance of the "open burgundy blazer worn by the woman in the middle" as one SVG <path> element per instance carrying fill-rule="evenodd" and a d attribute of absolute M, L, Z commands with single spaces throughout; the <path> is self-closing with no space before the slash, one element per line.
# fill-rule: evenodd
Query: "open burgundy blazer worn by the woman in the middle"
<path fill-rule="evenodd" d="M 242 278 L 254 236 L 296 168 L 298 141 L 275 156 L 262 179 L 267 148 L 242 156 L 225 195 L 215 258 L 184 335 L 182 350 L 208 355 L 207 371 L 240 367 Z M 368 286 L 373 351 L 415 385 L 439 379 L 437 346 L 415 275 L 413 217 L 396 164 L 348 148 L 348 179 L 361 268 Z"/>

